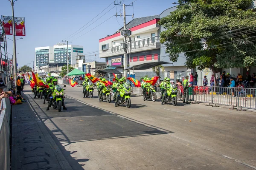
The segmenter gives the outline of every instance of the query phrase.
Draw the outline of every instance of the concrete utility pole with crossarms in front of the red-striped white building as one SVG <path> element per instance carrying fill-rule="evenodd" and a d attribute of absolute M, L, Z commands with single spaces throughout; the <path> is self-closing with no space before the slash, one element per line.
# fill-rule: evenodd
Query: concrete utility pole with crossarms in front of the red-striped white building
<path fill-rule="evenodd" d="M 127 68 L 127 40 L 126 40 L 126 37 L 129 37 L 131 35 L 131 31 L 130 30 L 126 30 L 126 19 L 125 17 L 134 17 L 134 14 L 133 15 L 125 15 L 125 7 L 126 6 L 133 6 L 133 3 L 131 3 L 131 5 L 125 5 L 125 4 L 122 4 L 122 2 L 120 2 L 120 4 L 116 4 L 116 1 L 115 1 L 115 5 L 117 6 L 123 6 L 123 17 L 124 17 L 124 28 L 121 32 L 121 35 L 124 36 L 124 42 L 125 42 L 125 48 L 124 48 L 124 51 L 125 51 L 125 54 L 124 54 L 124 76 L 127 78 L 127 70 L 125 70 Z M 117 13 L 116 13 L 116 17 L 117 17 Z M 120 14 L 120 17 L 122 17 L 122 13 Z"/>

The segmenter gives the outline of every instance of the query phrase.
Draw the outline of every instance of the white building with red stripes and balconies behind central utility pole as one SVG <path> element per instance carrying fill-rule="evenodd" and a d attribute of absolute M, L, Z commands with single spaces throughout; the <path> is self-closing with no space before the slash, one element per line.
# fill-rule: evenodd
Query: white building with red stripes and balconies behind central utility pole
<path fill-rule="evenodd" d="M 155 62 L 160 60 L 160 26 L 157 22 L 159 15 L 150 17 L 135 18 L 126 28 L 131 30 L 128 38 L 128 59 L 127 65 L 133 66 L 145 62 Z M 121 35 L 122 28 L 115 34 L 99 40 L 99 57 L 105 58 L 108 66 L 116 67 L 123 71 L 124 61 L 124 37 Z M 130 54 L 130 55 L 129 55 Z M 155 76 L 150 70 L 137 71 L 135 77 Z"/>

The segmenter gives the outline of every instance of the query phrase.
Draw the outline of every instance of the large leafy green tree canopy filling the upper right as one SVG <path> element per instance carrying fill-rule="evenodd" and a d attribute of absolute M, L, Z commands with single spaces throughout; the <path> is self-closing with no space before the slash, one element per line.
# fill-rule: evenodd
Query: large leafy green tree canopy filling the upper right
<path fill-rule="evenodd" d="M 178 0 L 177 10 L 158 23 L 170 60 L 186 56 L 188 68 L 256 66 L 253 0 Z"/>

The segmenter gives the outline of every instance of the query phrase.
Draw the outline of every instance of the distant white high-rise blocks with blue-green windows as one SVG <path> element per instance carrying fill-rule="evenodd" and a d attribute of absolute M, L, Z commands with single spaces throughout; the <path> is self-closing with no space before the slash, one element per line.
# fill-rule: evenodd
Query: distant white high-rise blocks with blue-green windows
<path fill-rule="evenodd" d="M 76 56 L 83 55 L 84 48 L 81 45 L 68 45 L 69 64 L 76 64 Z M 58 44 L 53 47 L 37 47 L 35 48 L 35 65 L 41 67 L 47 63 L 67 63 L 67 45 Z"/>

